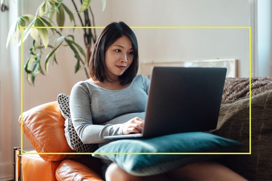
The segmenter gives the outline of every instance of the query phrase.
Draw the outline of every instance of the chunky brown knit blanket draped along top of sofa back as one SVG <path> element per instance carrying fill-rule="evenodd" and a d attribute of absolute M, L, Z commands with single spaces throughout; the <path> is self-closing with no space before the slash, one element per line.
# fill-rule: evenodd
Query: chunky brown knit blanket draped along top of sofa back
<path fill-rule="evenodd" d="M 251 78 L 251 96 L 272 89 L 271 77 Z M 249 97 L 249 78 L 226 78 L 222 102 Z"/>

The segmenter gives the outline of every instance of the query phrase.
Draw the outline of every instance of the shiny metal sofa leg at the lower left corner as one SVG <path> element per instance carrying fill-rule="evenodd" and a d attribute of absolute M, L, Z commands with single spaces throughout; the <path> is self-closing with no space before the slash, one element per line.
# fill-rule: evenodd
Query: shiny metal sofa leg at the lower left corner
<path fill-rule="evenodd" d="M 21 148 L 13 148 L 14 181 L 21 181 Z"/>

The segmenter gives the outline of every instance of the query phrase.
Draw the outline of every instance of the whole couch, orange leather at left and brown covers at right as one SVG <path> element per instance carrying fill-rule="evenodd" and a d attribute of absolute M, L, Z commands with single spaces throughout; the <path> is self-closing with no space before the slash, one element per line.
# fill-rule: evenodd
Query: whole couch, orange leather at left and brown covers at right
<path fill-rule="evenodd" d="M 272 180 L 272 77 L 252 78 L 251 100 L 248 81 L 226 79 L 218 126 L 209 132 L 242 142 L 237 152 L 246 153 L 222 155 L 217 161 L 249 180 Z M 20 125 L 22 120 L 23 132 L 35 148 L 30 153 L 74 153 L 64 136 L 65 120 L 57 101 L 24 112 Z M 23 180 L 103 180 L 101 160 L 90 155 L 23 154 L 21 165 Z"/>

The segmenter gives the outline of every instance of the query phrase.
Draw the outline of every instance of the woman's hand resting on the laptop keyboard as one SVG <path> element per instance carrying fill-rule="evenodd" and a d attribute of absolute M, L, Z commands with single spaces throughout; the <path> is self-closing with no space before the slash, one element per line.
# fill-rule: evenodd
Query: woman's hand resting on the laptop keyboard
<path fill-rule="evenodd" d="M 144 120 L 140 119 L 139 117 L 135 117 L 123 124 L 123 135 L 128 135 L 130 133 L 141 133 L 144 125 Z"/>

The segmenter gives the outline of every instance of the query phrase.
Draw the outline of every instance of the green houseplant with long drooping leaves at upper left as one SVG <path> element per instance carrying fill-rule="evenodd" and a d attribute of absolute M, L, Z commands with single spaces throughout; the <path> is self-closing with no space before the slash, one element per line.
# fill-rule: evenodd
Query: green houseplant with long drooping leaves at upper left
<path fill-rule="evenodd" d="M 95 26 L 94 15 L 92 13 L 90 3 L 91 0 L 79 0 L 81 2 L 81 8 L 75 3 L 75 0 L 71 0 L 73 6 L 77 12 L 82 27 Z M 102 11 L 104 11 L 106 6 L 106 0 L 102 0 Z M 35 15 L 24 14 L 17 18 L 17 21 L 11 26 L 6 47 L 10 39 L 13 40 L 15 45 L 21 45 L 24 41 L 31 36 L 33 39 L 32 46 L 29 48 L 29 58 L 24 64 L 24 70 L 27 73 L 28 83 L 34 85 L 35 77 L 38 73 L 45 75 L 45 71 L 48 73 L 48 65 L 53 65 L 54 62 L 57 63 L 56 52 L 60 46 L 67 46 L 73 52 L 76 58 L 75 73 L 79 71 L 80 68 L 84 68 L 86 76 L 88 78 L 88 72 L 86 70 L 87 60 L 91 56 L 91 47 L 96 42 L 96 29 L 83 28 L 84 30 L 84 41 L 86 46 L 86 53 L 84 49 L 76 43 L 73 34 L 64 36 L 62 34 L 65 14 L 69 15 L 69 19 L 76 26 L 74 14 L 70 9 L 64 4 L 63 0 L 44 0 L 39 7 Z M 56 21 L 53 21 L 53 16 L 56 14 Z M 84 18 L 81 17 L 84 14 Z M 83 21 L 84 20 L 84 21 Z M 21 34 L 21 27 L 33 27 L 23 29 Z M 35 28 L 35 27 L 53 27 L 53 28 Z M 49 35 L 53 35 L 53 41 L 49 40 Z M 21 42 L 21 36 L 23 42 Z M 44 69 L 42 68 L 42 56 L 44 54 L 44 49 L 50 48 L 50 52 L 45 56 L 44 59 Z"/>

